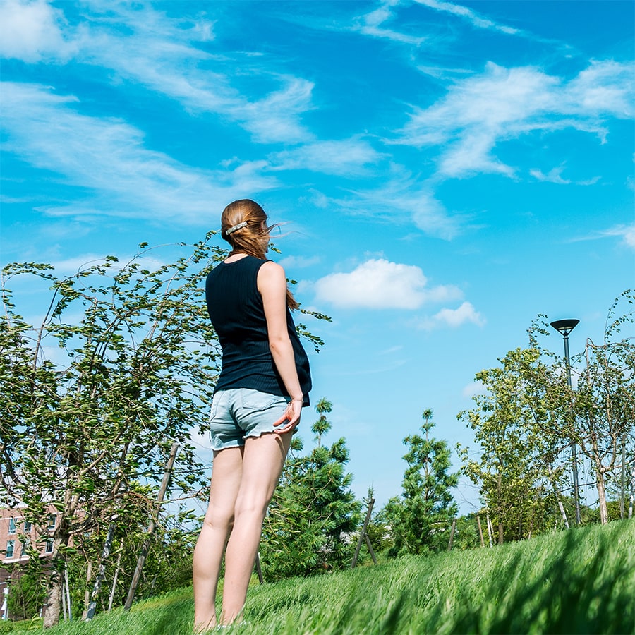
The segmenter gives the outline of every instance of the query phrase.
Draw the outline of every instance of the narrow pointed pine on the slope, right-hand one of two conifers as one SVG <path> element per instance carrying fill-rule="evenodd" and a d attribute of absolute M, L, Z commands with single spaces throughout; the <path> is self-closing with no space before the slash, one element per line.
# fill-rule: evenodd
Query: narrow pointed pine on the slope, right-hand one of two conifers
<path fill-rule="evenodd" d="M 401 485 L 401 497 L 389 500 L 382 514 L 394 538 L 393 554 L 425 553 L 447 548 L 447 530 L 456 516 L 452 488 L 458 473 L 449 473 L 447 443 L 430 437 L 433 411 L 423 411 L 422 435 L 409 435 L 404 444 L 408 464 Z"/>

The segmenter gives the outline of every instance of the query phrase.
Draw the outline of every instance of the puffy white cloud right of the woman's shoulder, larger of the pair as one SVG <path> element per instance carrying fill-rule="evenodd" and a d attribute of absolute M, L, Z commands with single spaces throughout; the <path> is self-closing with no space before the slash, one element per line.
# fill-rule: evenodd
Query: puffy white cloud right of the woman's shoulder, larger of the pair
<path fill-rule="evenodd" d="M 425 302 L 462 296 L 452 285 L 428 288 L 428 279 L 414 265 L 371 259 L 350 273 L 334 273 L 315 283 L 317 300 L 345 308 L 416 309 Z"/>

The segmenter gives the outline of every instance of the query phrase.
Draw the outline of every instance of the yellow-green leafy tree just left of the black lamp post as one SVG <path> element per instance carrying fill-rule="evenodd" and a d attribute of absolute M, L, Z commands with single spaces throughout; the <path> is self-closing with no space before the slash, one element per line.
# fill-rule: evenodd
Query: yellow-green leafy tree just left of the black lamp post
<path fill-rule="evenodd" d="M 559 456 L 568 447 L 555 432 L 566 400 L 553 392 L 551 369 L 538 349 L 509 351 L 500 368 L 482 370 L 476 380 L 484 394 L 475 407 L 459 413 L 474 430 L 478 459 L 461 449 L 464 472 L 480 485 L 480 495 L 498 541 L 519 540 L 553 522 L 564 479 Z"/>

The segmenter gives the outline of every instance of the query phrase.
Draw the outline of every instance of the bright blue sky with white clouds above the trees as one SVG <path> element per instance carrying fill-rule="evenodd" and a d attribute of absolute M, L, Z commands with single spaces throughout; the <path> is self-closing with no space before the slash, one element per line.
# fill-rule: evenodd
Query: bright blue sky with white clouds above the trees
<path fill-rule="evenodd" d="M 333 318 L 313 399 L 385 502 L 423 409 L 470 444 L 475 373 L 538 313 L 581 320 L 581 351 L 633 286 L 634 24 L 611 0 L 2 0 L 2 262 L 72 273 L 258 200 Z"/>

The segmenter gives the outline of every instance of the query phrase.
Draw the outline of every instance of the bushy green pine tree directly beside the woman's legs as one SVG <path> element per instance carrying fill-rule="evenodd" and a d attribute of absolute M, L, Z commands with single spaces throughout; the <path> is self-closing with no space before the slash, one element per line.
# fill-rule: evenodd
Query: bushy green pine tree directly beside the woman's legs
<path fill-rule="evenodd" d="M 350 564 L 355 545 L 351 533 L 360 521 L 360 503 L 346 473 L 349 450 L 344 437 L 328 446 L 322 440 L 332 424 L 332 404 L 320 399 L 319 417 L 311 430 L 315 447 L 294 456 L 302 444 L 294 440 L 262 531 L 262 568 L 267 579 L 308 576 Z"/>

